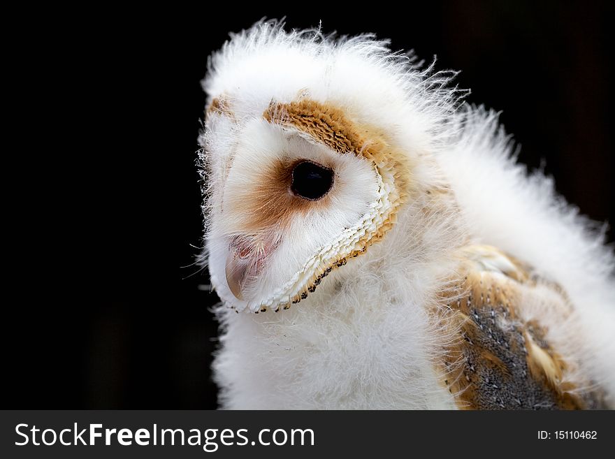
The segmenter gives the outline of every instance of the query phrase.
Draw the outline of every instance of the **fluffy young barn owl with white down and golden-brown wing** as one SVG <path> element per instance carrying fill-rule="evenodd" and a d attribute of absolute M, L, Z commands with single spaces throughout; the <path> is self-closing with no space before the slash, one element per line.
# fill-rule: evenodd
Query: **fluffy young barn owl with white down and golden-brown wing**
<path fill-rule="evenodd" d="M 212 55 L 199 162 L 222 407 L 614 406 L 604 233 L 452 77 L 279 22 Z"/>

